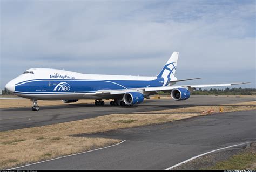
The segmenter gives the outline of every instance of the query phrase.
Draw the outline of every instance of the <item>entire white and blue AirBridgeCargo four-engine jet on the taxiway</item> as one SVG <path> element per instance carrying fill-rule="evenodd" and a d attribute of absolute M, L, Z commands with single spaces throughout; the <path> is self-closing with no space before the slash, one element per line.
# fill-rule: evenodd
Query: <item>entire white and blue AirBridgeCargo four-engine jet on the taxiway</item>
<path fill-rule="evenodd" d="M 219 87 L 237 84 L 183 85 L 176 82 L 200 79 L 178 80 L 175 75 L 179 52 L 173 52 L 163 70 L 156 77 L 124 75 L 81 74 L 50 68 L 31 68 L 6 84 L 12 94 L 33 101 L 32 110 L 39 111 L 37 100 L 63 100 L 64 103 L 79 99 L 95 99 L 95 105 L 104 105 L 103 99 L 113 99 L 110 105 L 134 105 L 149 99 L 157 91 L 171 93 L 174 100 L 190 98 L 190 91 L 196 87 Z M 248 83 L 248 82 L 247 82 Z"/>

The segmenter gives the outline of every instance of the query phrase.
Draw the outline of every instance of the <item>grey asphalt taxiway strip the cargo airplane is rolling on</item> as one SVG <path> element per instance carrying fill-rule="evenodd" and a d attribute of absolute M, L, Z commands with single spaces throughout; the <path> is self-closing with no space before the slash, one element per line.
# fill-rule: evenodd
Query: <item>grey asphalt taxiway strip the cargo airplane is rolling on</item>
<path fill-rule="evenodd" d="M 183 108 L 198 105 L 220 105 L 245 101 L 255 101 L 252 97 L 215 97 L 192 95 L 185 101 L 170 99 L 145 100 L 142 104 L 132 107 L 114 107 L 106 104 L 103 107 L 92 104 L 63 104 L 58 106 L 40 106 L 40 111 L 31 111 L 31 107 L 1 108 L 0 131 L 21 129 L 53 123 L 69 122 L 116 113 L 135 113 L 158 111 L 171 108 Z M 19 101 L 19 100 L 17 100 Z"/>

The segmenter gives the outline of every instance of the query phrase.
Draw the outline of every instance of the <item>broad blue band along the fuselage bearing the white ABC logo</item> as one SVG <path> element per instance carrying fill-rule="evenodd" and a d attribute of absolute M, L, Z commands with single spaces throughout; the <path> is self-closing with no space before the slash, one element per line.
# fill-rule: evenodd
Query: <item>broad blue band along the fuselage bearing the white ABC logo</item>
<path fill-rule="evenodd" d="M 95 92 L 97 90 L 120 90 L 126 88 L 157 87 L 163 85 L 163 78 L 152 81 L 134 80 L 64 80 L 64 79 L 35 79 L 19 82 L 15 86 L 15 92 L 24 93 L 74 93 L 74 92 Z M 65 82 L 66 86 L 56 86 Z M 63 84 L 61 84 L 63 85 Z"/>

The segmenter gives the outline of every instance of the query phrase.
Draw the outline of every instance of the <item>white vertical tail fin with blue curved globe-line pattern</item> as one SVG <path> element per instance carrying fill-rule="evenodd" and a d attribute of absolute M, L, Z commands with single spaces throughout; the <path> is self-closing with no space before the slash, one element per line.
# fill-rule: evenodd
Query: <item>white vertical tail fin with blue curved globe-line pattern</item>
<path fill-rule="evenodd" d="M 161 70 L 160 74 L 157 76 L 158 78 L 164 78 L 164 86 L 167 85 L 170 79 L 175 76 L 178 57 L 179 52 L 174 51 L 164 68 Z"/>

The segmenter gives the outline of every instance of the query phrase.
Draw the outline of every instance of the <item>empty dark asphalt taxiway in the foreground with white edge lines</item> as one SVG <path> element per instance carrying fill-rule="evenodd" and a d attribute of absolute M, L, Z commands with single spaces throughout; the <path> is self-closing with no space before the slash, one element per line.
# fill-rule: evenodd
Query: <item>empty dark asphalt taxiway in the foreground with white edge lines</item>
<path fill-rule="evenodd" d="M 230 112 L 80 135 L 126 141 L 110 148 L 19 169 L 166 169 L 214 149 L 255 141 L 255 122 L 255 111 Z"/>

